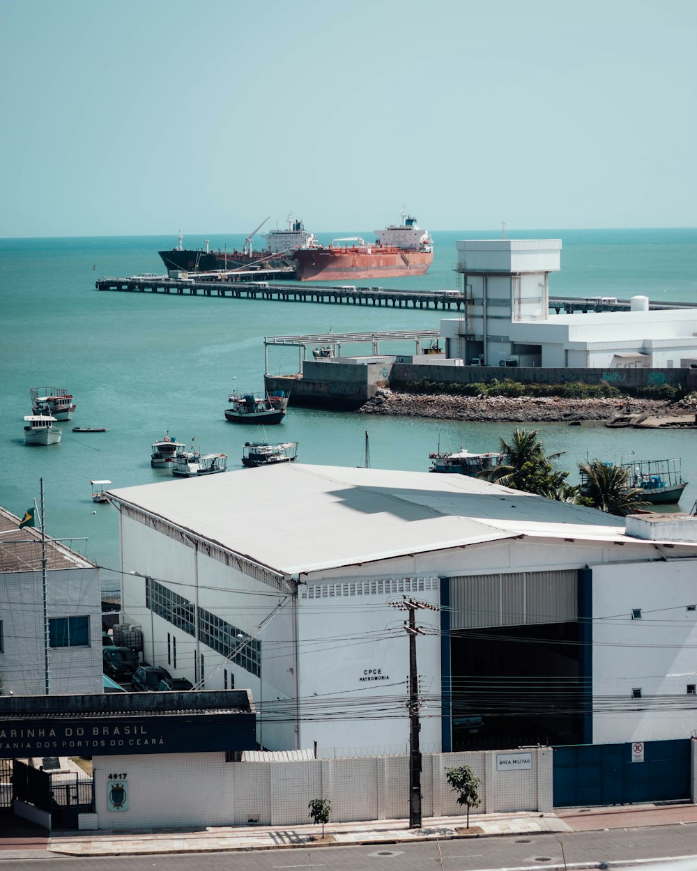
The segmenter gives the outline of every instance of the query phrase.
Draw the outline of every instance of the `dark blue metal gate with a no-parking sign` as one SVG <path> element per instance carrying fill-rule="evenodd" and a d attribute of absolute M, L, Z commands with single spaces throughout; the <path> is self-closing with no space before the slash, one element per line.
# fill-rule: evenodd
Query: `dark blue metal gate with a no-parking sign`
<path fill-rule="evenodd" d="M 690 798 L 690 739 L 553 747 L 554 807 L 624 805 Z"/>

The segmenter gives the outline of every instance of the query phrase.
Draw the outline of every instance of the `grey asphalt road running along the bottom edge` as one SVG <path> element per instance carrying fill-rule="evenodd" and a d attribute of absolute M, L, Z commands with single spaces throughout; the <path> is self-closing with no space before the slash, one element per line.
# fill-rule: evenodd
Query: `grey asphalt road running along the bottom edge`
<path fill-rule="evenodd" d="M 211 854 L 159 854 L 108 858 L 74 856 L 3 860 L 17 871 L 53 868 L 95 871 L 483 871 L 483 869 L 572 868 L 600 862 L 646 861 L 694 855 L 697 824 L 529 837 L 457 839 L 371 847 L 294 847 L 293 849 Z M 685 871 L 685 869 L 681 869 Z"/>

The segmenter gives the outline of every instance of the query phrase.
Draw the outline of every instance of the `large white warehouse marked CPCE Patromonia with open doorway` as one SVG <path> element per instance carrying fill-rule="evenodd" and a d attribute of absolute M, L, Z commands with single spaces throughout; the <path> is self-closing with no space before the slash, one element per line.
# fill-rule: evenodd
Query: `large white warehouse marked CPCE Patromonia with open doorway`
<path fill-rule="evenodd" d="M 687 738 L 697 518 L 624 519 L 466 476 L 285 464 L 113 490 L 145 658 L 249 688 L 268 749 Z"/>

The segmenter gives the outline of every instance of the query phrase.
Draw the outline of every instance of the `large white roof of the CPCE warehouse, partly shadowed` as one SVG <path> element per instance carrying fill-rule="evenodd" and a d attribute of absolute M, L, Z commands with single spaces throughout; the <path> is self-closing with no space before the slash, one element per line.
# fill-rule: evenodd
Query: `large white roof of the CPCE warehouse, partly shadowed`
<path fill-rule="evenodd" d="M 625 538 L 619 517 L 464 475 L 283 463 L 110 492 L 288 575 L 521 535 Z"/>

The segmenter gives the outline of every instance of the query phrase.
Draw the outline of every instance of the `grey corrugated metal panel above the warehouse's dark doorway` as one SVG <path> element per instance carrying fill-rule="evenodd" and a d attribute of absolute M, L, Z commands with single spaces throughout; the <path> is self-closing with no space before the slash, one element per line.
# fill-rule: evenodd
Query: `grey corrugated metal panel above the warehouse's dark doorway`
<path fill-rule="evenodd" d="M 577 571 L 450 578 L 450 630 L 566 623 L 578 618 Z"/>

